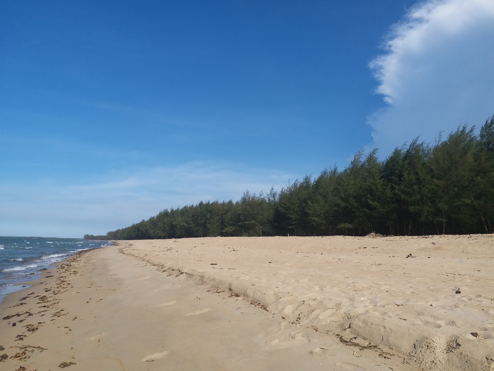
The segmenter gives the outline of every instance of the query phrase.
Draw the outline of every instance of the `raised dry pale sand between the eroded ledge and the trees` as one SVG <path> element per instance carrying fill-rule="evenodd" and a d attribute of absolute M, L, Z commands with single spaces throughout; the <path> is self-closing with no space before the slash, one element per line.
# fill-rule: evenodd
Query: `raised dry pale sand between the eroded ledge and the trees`
<path fill-rule="evenodd" d="M 424 369 L 494 364 L 493 235 L 121 243 L 122 253 L 164 272 L 267 306 L 280 327 L 266 334 L 272 347 L 303 343 L 312 328 L 387 345 Z"/>

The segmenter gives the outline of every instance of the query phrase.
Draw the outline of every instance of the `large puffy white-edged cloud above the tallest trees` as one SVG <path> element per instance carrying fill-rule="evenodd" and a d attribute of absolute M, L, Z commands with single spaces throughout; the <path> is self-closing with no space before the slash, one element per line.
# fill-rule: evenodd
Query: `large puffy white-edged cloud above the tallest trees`
<path fill-rule="evenodd" d="M 371 62 L 387 106 L 371 114 L 385 156 L 417 136 L 433 141 L 494 114 L 494 1 L 425 1 L 394 25 Z"/>

